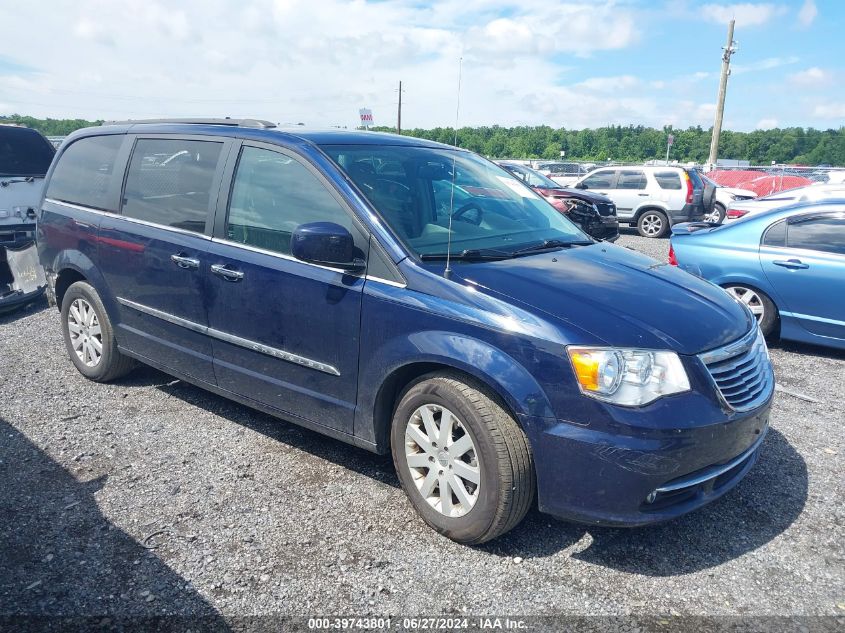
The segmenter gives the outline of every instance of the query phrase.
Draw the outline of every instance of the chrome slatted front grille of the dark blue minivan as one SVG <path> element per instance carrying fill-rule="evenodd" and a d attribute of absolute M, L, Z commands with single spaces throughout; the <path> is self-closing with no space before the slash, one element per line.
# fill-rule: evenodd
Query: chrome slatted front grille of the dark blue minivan
<path fill-rule="evenodd" d="M 750 411 L 771 396 L 775 385 L 772 363 L 756 325 L 735 343 L 699 356 L 724 401 L 736 411 Z"/>

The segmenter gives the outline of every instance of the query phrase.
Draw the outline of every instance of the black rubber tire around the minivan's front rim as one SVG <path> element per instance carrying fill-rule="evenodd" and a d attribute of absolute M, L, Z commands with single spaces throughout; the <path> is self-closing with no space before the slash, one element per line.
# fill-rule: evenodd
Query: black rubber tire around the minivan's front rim
<path fill-rule="evenodd" d="M 474 444 L 480 480 L 475 503 L 463 516 L 446 516 L 431 505 L 408 465 L 405 433 L 415 412 L 424 406 L 451 411 Z M 528 439 L 491 392 L 463 376 L 429 374 L 408 387 L 394 411 L 390 444 L 399 481 L 414 509 L 432 528 L 458 543 L 474 545 L 504 534 L 525 517 L 534 500 L 534 462 Z M 442 475 L 443 462 L 438 465 L 431 456 L 428 459 Z M 451 471 L 451 464 L 448 468 Z M 420 477 L 420 469 L 415 472 Z M 450 492 L 450 499 L 458 500 L 458 496 Z"/>

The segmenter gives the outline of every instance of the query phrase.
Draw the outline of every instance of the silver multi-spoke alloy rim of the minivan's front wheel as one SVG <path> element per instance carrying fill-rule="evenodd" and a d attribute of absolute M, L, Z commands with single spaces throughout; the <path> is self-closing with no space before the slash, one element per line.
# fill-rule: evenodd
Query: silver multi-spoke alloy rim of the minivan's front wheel
<path fill-rule="evenodd" d="M 478 453 L 458 417 L 440 405 L 425 404 L 405 428 L 405 460 L 428 504 L 447 517 L 475 506 L 481 484 Z"/>

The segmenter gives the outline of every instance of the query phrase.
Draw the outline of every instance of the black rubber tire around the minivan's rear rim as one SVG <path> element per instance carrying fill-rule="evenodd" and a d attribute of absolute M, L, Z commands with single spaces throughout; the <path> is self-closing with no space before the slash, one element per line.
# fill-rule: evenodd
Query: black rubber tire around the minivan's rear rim
<path fill-rule="evenodd" d="M 76 300 L 82 300 L 91 306 L 100 327 L 99 336 L 102 351 L 99 360 L 93 366 L 86 364 L 79 357 L 71 340 L 69 314 L 71 312 L 71 306 L 74 306 Z M 97 294 L 97 291 L 94 290 L 91 284 L 85 281 L 77 281 L 71 284 L 62 298 L 61 315 L 65 348 L 67 349 L 71 362 L 80 374 L 96 382 L 108 382 L 125 376 L 135 368 L 136 361 L 121 354 L 117 349 L 117 341 L 114 338 L 114 329 L 112 328 L 108 313 L 105 307 L 103 307 L 100 295 Z"/>

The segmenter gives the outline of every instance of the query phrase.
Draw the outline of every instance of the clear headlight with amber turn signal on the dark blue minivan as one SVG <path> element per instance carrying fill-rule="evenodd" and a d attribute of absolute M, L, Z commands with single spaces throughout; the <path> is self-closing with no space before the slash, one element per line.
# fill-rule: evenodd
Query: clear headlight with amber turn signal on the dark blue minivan
<path fill-rule="evenodd" d="M 689 379 L 675 352 L 614 347 L 568 347 L 581 392 L 636 407 L 689 391 Z"/>

